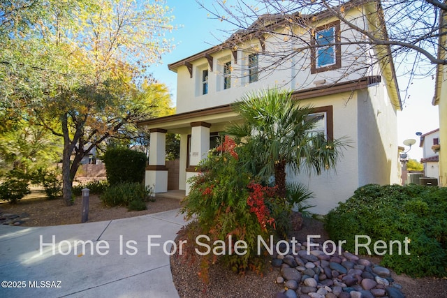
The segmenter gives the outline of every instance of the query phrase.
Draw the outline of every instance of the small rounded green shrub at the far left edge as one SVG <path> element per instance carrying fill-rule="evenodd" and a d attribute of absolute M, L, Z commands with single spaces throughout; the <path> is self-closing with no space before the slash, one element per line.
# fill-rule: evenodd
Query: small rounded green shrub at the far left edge
<path fill-rule="evenodd" d="M 10 171 L 6 175 L 6 179 L 0 184 L 0 199 L 11 204 L 17 203 L 18 200 L 31 193 L 28 184 L 29 179 L 26 174 Z"/>

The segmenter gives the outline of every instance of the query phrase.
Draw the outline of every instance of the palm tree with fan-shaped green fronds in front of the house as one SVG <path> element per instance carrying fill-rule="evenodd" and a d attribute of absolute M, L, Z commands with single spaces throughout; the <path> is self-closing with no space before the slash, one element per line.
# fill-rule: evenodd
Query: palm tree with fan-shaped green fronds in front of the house
<path fill-rule="evenodd" d="M 286 165 L 294 172 L 321 174 L 335 168 L 346 147 L 343 140 L 328 140 L 323 133 L 312 133 L 316 126 L 314 109 L 300 107 L 289 91 L 266 89 L 242 97 L 234 105 L 243 122 L 226 133 L 244 143 L 244 167 L 258 177 L 274 176 L 278 195 L 286 195 Z"/>

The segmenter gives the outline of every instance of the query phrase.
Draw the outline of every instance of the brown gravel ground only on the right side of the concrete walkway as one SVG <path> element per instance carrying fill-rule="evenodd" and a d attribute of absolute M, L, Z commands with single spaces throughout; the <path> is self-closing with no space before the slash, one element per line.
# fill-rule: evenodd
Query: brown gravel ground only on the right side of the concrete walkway
<path fill-rule="evenodd" d="M 328 240 L 328 234 L 323 229 L 323 223 L 305 218 L 302 229 L 295 234 L 295 238 L 302 242 L 307 235 L 321 235 L 316 242 Z M 199 257 L 199 256 L 198 256 Z M 367 258 L 378 264 L 380 258 Z M 195 262 L 184 261 L 179 255 L 170 259 L 175 287 L 182 298 L 186 297 L 274 297 L 281 290 L 281 286 L 274 283 L 279 270 L 268 265 L 263 275 L 248 272 L 239 276 L 221 265 L 213 265 L 210 269 L 210 283 L 201 281 L 200 258 Z M 447 297 L 447 279 L 441 278 L 410 278 L 406 275 L 396 275 L 392 271 L 396 283 L 403 286 L 402 292 L 407 298 Z"/>

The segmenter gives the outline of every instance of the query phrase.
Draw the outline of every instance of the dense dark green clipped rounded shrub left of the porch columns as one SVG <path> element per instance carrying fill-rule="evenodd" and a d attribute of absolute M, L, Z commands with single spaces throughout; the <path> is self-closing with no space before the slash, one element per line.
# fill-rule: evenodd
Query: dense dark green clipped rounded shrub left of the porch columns
<path fill-rule="evenodd" d="M 123 148 L 108 148 L 103 156 L 110 185 L 141 183 L 145 178 L 147 157 L 144 153 Z"/>

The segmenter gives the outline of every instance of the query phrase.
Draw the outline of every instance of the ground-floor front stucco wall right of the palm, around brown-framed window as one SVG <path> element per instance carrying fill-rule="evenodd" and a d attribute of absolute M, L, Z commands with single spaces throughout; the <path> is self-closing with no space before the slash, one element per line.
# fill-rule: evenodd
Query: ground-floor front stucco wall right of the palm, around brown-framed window
<path fill-rule="evenodd" d="M 353 195 L 358 188 L 358 128 L 356 125 L 358 95 L 357 92 L 324 96 L 317 100 L 309 100 L 314 107 L 332 105 L 334 137 L 346 137 L 351 147 L 346 148 L 343 157 L 337 163 L 335 171 L 324 172 L 321 176 L 309 175 L 307 173 L 292 174 L 288 172 L 288 181 L 300 181 L 314 192 L 315 199 L 310 204 L 316 207 L 310 211 L 316 214 L 327 214 L 330 209 L 337 207 L 337 202 L 344 201 Z"/>

